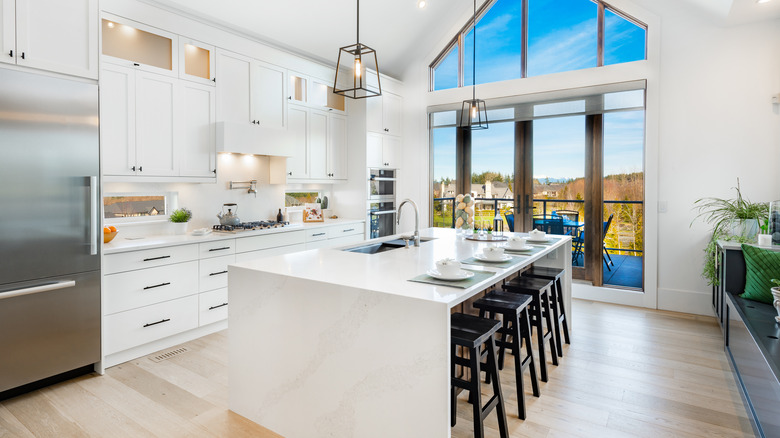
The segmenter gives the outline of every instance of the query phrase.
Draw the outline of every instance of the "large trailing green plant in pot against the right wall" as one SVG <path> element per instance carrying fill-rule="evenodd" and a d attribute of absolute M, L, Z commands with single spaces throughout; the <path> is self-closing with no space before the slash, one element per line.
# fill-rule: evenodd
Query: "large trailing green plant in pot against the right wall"
<path fill-rule="evenodd" d="M 702 271 L 702 277 L 713 286 L 719 284 L 715 260 L 718 240 L 755 242 L 759 221 L 766 221 L 769 213 L 769 204 L 766 202 L 751 202 L 742 196 L 739 178 L 737 186 L 732 188 L 737 192 L 734 199 L 701 198 L 694 203 L 698 214 L 691 221 L 691 225 L 701 218 L 713 226 L 712 237 L 704 248 Z"/>

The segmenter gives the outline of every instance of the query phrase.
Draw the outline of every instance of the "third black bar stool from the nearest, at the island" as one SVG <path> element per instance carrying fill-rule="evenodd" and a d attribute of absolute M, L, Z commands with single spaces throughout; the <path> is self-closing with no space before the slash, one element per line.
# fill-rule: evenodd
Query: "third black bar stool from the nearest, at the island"
<path fill-rule="evenodd" d="M 539 369 L 542 382 L 547 381 L 547 355 L 545 354 L 545 341 L 550 342 L 550 356 L 553 365 L 558 365 L 558 354 L 555 351 L 555 325 L 552 322 L 552 310 L 550 309 L 550 295 L 552 295 L 552 280 L 541 278 L 517 277 L 504 284 L 504 290 L 514 293 L 531 295 L 531 326 L 536 327 L 536 342 L 539 348 Z M 542 322 L 544 320 L 544 323 Z M 544 325 L 547 325 L 547 331 Z"/>

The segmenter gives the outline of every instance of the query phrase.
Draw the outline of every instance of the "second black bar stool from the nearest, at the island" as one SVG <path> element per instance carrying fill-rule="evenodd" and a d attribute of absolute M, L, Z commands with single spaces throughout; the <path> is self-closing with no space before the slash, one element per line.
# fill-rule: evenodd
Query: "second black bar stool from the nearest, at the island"
<path fill-rule="evenodd" d="M 525 420 L 525 389 L 523 388 L 523 373 L 526 369 L 531 374 L 531 387 L 534 396 L 539 397 L 539 382 L 536 379 L 536 364 L 531 348 L 531 318 L 528 307 L 533 301 L 531 295 L 516 294 L 510 292 L 493 291 L 474 302 L 474 307 L 479 309 L 479 316 L 495 318 L 501 315 L 503 326 L 498 329 L 501 338 L 496 341 L 498 346 L 498 369 L 504 369 L 504 349 L 509 348 L 515 358 L 515 382 L 517 389 L 517 416 Z M 511 337 L 511 342 L 506 341 L 506 336 Z M 522 344 L 525 343 L 525 355 L 522 352 Z"/>

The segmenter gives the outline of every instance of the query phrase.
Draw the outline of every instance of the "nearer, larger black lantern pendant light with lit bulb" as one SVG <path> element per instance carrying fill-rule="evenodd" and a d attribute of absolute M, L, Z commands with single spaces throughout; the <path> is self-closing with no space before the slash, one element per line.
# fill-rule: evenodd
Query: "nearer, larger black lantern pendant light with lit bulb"
<path fill-rule="evenodd" d="M 357 41 L 339 49 L 333 92 L 350 99 L 382 94 L 376 51 L 360 43 L 360 0 L 357 0 Z"/>

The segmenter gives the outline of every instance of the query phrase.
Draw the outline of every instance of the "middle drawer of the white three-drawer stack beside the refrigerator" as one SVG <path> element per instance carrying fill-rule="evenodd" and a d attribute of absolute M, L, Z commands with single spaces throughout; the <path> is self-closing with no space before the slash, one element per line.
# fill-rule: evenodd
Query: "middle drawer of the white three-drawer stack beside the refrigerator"
<path fill-rule="evenodd" d="M 198 262 L 106 275 L 106 315 L 198 293 Z"/>

